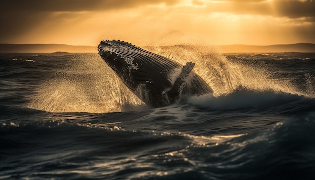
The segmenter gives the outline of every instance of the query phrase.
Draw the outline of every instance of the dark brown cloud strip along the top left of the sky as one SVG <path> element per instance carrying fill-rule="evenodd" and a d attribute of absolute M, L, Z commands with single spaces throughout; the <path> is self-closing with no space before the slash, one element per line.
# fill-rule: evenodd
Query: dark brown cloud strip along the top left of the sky
<path fill-rule="evenodd" d="M 143 5 L 176 4 L 179 0 L 1 0 L 0 10 L 10 11 L 104 11 Z"/>

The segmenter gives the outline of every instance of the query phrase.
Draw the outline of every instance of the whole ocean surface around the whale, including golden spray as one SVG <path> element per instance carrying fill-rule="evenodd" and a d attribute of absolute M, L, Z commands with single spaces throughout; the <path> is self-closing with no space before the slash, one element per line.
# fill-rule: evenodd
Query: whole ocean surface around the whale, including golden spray
<path fill-rule="evenodd" d="M 213 96 L 151 109 L 97 53 L 0 54 L 0 179 L 315 179 L 315 53 L 145 48 Z"/>

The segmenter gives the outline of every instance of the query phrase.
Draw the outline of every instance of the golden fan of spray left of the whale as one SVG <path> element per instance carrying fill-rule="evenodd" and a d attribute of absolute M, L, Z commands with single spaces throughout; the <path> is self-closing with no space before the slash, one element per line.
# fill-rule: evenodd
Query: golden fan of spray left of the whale
<path fill-rule="evenodd" d="M 117 112 L 145 108 L 96 54 L 71 56 L 47 79 L 29 108 L 47 112 Z"/>

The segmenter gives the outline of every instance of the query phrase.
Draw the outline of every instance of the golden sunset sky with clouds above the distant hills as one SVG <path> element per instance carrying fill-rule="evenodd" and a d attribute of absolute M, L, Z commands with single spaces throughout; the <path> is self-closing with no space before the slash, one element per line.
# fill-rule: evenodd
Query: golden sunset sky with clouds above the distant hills
<path fill-rule="evenodd" d="M 315 43 L 315 0 L 1 0 L 0 43 Z"/>

